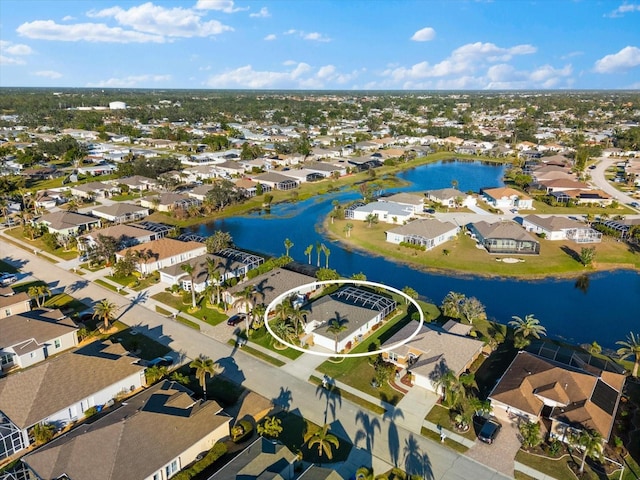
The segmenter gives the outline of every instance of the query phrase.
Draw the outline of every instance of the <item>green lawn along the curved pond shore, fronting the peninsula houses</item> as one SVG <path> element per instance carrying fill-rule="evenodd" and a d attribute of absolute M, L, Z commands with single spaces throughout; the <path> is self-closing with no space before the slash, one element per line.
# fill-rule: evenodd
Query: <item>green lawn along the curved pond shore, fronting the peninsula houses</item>
<path fill-rule="evenodd" d="M 427 270 L 455 270 L 501 277 L 546 278 L 550 274 L 576 276 L 608 268 L 640 268 L 640 255 L 630 251 L 625 243 L 610 238 L 605 238 L 602 243 L 593 245 L 596 249 L 594 264 L 585 268 L 576 260 L 580 253 L 580 246 L 569 241 L 538 238 L 540 255 L 497 256 L 490 255 L 484 249 L 476 248 L 476 242 L 471 237 L 461 234 L 441 247 L 422 252 L 386 242 L 384 232 L 389 229 L 386 223 L 380 222 L 371 227 L 366 222 L 349 221 L 349 223 L 353 224 L 349 238 L 346 238 L 343 231 L 347 224 L 346 220 L 336 220 L 333 224 L 327 221 L 325 228 L 333 238 L 343 243 Z M 447 255 L 445 255 L 445 249 L 448 251 Z M 500 257 L 516 257 L 524 261 L 507 264 L 496 261 Z"/>

